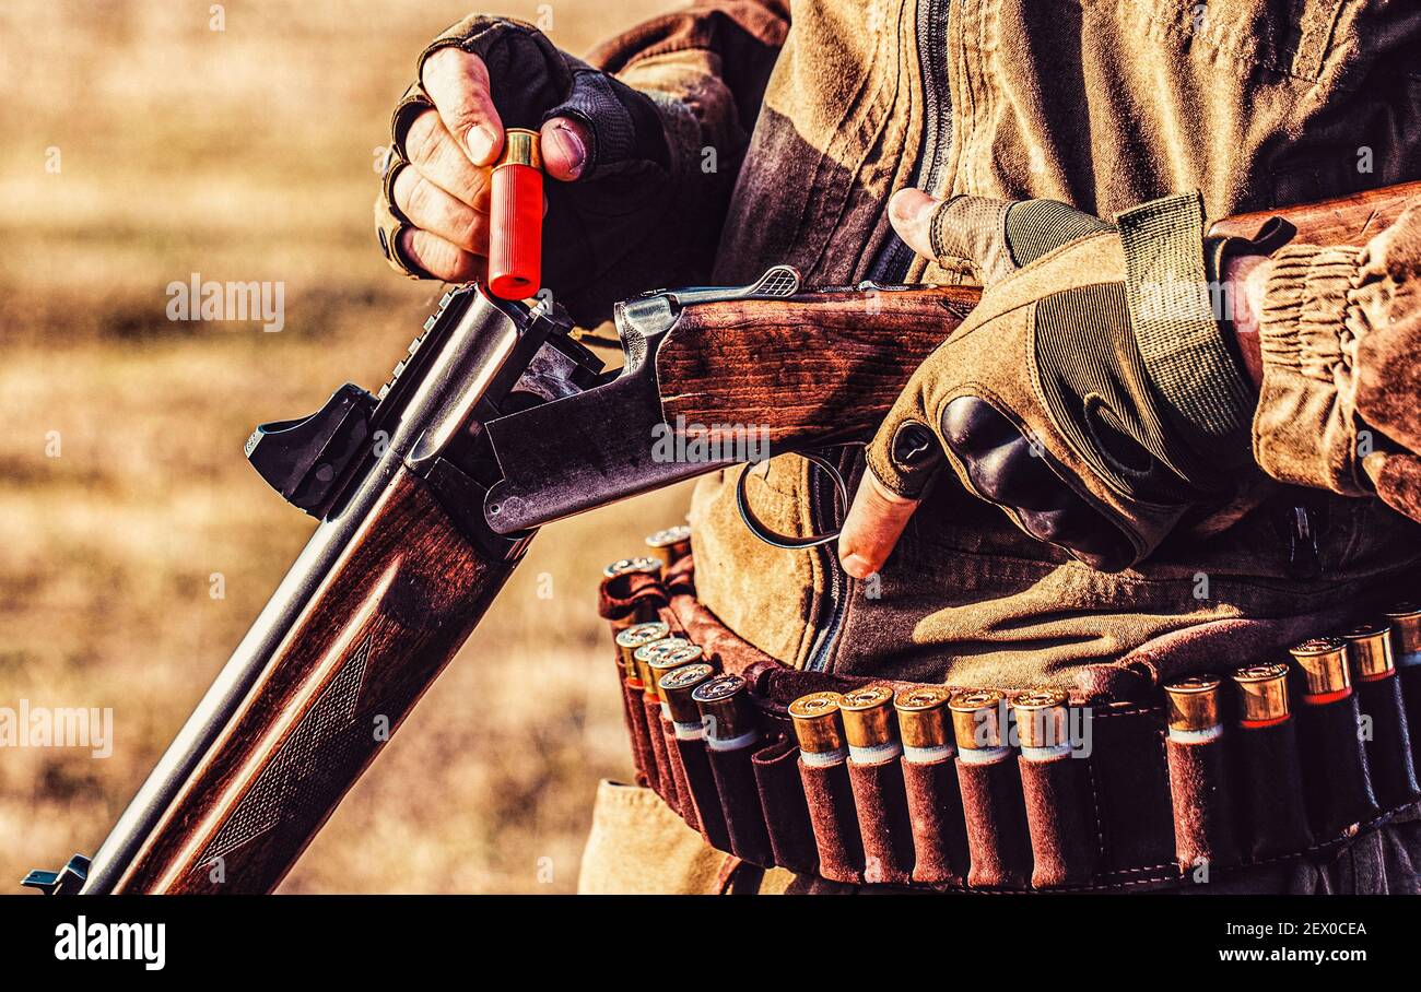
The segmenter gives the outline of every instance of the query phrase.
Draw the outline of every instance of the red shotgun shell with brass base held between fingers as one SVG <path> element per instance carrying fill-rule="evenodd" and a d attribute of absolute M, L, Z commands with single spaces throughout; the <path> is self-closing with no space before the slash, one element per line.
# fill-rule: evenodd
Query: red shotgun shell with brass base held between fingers
<path fill-rule="evenodd" d="M 543 156 L 537 131 L 509 128 L 489 178 L 489 291 L 527 300 L 543 279 Z"/>

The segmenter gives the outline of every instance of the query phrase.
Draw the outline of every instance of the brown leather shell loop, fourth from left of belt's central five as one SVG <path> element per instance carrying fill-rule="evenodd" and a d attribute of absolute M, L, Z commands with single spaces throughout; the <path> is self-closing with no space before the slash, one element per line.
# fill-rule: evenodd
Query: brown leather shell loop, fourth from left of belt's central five
<path fill-rule="evenodd" d="M 1022 779 L 1006 748 L 992 762 L 965 762 L 958 752 L 958 785 L 968 834 L 968 885 L 1025 887 L 1032 874 Z"/>

